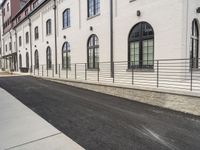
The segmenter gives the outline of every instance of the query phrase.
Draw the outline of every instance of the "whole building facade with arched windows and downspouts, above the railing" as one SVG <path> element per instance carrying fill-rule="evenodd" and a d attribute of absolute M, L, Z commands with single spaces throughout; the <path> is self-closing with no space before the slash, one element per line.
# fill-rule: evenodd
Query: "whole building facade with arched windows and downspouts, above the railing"
<path fill-rule="evenodd" d="M 199 68 L 199 0 L 4 0 L 1 7 L 5 70 L 54 65 L 57 73 L 58 64 L 95 70 L 110 62 L 112 75 L 112 62 L 151 70 L 157 59 L 190 58 Z"/>

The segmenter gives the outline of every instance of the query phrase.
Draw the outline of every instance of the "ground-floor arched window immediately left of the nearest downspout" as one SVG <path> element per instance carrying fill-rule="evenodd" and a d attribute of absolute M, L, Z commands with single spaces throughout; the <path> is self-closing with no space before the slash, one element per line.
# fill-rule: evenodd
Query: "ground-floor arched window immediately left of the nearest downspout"
<path fill-rule="evenodd" d="M 99 39 L 96 35 L 91 35 L 87 45 L 87 62 L 89 69 L 98 69 L 99 63 Z"/>

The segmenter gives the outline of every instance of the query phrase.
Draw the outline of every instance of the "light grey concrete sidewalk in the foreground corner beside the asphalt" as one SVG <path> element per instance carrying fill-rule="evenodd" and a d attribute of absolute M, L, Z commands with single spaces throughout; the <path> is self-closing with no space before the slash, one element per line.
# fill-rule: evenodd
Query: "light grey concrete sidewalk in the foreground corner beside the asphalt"
<path fill-rule="evenodd" d="M 0 150 L 83 150 L 0 88 Z"/>

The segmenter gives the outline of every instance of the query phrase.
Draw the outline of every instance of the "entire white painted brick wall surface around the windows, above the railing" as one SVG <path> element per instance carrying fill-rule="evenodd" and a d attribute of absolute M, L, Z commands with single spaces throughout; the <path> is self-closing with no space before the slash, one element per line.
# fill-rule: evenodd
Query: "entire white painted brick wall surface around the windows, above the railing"
<path fill-rule="evenodd" d="M 146 21 L 154 29 L 155 59 L 189 58 L 191 24 L 194 18 L 200 20 L 196 8 L 200 7 L 199 0 L 114 0 L 114 60 L 127 61 L 128 35 L 134 25 Z M 63 29 L 62 13 L 71 10 L 71 26 Z M 137 10 L 141 16 L 137 17 Z M 52 19 L 52 34 L 46 36 L 46 21 Z M 32 22 L 32 60 L 34 52 L 39 52 L 39 63 L 46 64 L 46 48 L 51 47 L 52 62 L 55 63 L 55 33 L 53 1 L 47 3 L 31 17 Z M 87 1 L 57 0 L 57 58 L 62 63 L 62 46 L 65 41 L 70 43 L 72 63 L 87 62 L 87 41 L 90 35 L 96 34 L 100 44 L 100 62 L 110 61 L 110 2 L 101 0 L 100 15 L 87 18 Z M 34 28 L 39 27 L 39 39 L 34 38 Z M 93 31 L 90 31 L 90 27 Z M 30 45 L 25 44 L 25 33 L 29 31 L 28 20 L 17 28 L 17 36 L 22 36 L 23 67 L 26 65 L 26 52 L 30 54 Z M 30 33 L 29 33 L 30 35 Z M 66 39 L 64 39 L 66 36 Z M 14 38 L 13 38 L 14 39 Z M 8 33 L 4 35 L 5 44 L 9 43 Z M 186 42 L 187 41 L 187 42 Z M 7 54 L 7 53 L 6 53 Z M 31 60 L 31 59 L 29 59 Z M 29 63 L 31 64 L 31 63 Z"/>

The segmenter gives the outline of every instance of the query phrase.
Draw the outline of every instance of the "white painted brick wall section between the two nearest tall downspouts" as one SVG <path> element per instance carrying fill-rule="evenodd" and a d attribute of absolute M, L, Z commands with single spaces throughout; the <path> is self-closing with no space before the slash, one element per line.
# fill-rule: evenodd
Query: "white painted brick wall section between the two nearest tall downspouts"
<path fill-rule="evenodd" d="M 87 17 L 87 1 L 63 0 L 58 3 L 58 60 L 61 63 L 62 45 L 68 41 L 71 46 L 73 63 L 87 62 L 87 41 L 96 34 L 100 44 L 100 61 L 110 60 L 110 18 L 109 1 L 101 1 L 101 13 L 92 19 Z M 71 10 L 71 27 L 62 29 L 62 13 L 66 8 Z M 90 26 L 93 31 L 90 31 Z M 64 35 L 66 39 L 64 39 Z"/>

